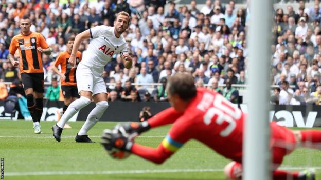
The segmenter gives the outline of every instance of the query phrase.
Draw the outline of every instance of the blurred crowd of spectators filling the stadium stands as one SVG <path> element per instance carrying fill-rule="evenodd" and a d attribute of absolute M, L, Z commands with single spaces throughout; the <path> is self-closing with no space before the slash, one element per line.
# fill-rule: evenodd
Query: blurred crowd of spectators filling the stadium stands
<path fill-rule="evenodd" d="M 166 3 L 169 6 L 165 12 Z M 238 90 L 231 85 L 246 83 L 250 16 L 246 5 L 236 8 L 234 1 L 223 4 L 207 0 L 200 9 L 195 1 L 180 7 L 166 0 L 2 1 L 0 81 L 20 78 L 7 56 L 24 15 L 32 20 L 31 30 L 40 32 L 52 49 L 50 56 L 42 55 L 45 81 L 51 82 L 52 77 L 59 78 L 51 67 L 58 54 L 66 50 L 65 39 L 97 25 L 113 26 L 115 14 L 120 11 L 129 12 L 132 18 L 123 36 L 131 49 L 133 67 L 124 68 L 119 55 L 105 66 L 102 76 L 110 83 L 110 101 L 167 101 L 167 77 L 190 72 L 198 87 L 207 85 L 231 102 L 239 102 Z M 286 10 L 275 10 L 271 85 L 279 88 L 274 89 L 272 103 L 321 102 L 320 21 L 319 1 L 305 7 L 301 0 L 297 12 L 291 5 Z M 86 51 L 88 43 L 81 44 L 82 54 L 90 53 Z M 18 53 L 15 58 L 19 59 Z"/>

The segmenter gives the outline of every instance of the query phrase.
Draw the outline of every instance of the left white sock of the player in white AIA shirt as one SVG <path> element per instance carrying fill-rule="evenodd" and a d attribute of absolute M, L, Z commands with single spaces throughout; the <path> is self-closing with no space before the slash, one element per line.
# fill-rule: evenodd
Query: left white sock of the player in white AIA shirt
<path fill-rule="evenodd" d="M 90 99 L 84 96 L 76 99 L 68 106 L 65 113 L 61 116 L 60 121 L 57 123 L 57 126 L 63 128 L 70 118 L 72 118 L 80 109 L 90 104 L 90 102 Z"/>

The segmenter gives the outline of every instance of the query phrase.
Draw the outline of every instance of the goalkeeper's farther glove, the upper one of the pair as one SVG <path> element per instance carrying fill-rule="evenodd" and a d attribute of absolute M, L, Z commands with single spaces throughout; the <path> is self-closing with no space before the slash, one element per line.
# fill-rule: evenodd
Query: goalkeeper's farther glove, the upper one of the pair
<path fill-rule="evenodd" d="M 123 136 L 132 139 L 138 136 L 140 133 L 148 131 L 150 129 L 150 125 L 147 121 L 137 123 L 137 122 L 129 122 L 129 123 L 119 123 L 114 128 Z"/>

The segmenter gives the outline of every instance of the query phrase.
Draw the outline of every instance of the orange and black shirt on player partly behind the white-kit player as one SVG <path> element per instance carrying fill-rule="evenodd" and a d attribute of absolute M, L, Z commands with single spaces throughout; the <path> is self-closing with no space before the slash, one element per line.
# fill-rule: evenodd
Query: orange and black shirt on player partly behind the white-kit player
<path fill-rule="evenodd" d="M 55 66 L 58 67 L 60 65 L 61 73 L 66 76 L 65 81 L 61 81 L 62 86 L 77 86 L 76 69 L 81 61 L 81 52 L 77 51 L 75 68 L 68 63 L 69 58 L 70 54 L 67 51 L 61 52 L 56 59 Z"/>

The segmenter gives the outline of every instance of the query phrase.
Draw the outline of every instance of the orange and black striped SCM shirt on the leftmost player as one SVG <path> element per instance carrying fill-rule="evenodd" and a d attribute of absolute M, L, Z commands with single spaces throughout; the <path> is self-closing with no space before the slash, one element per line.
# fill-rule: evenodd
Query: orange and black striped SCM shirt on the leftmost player
<path fill-rule="evenodd" d="M 43 73 L 41 52 L 37 48 L 47 49 L 49 46 L 45 38 L 38 32 L 32 32 L 25 36 L 18 34 L 12 38 L 9 52 L 14 55 L 19 49 L 20 73 Z"/>

